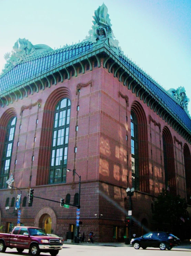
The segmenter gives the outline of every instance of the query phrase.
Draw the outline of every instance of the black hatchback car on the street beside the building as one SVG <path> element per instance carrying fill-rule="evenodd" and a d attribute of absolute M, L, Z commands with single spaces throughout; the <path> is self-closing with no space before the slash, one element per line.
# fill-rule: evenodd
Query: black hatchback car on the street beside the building
<path fill-rule="evenodd" d="M 131 245 L 135 249 L 142 247 L 158 247 L 161 250 L 172 249 L 173 246 L 178 245 L 177 238 L 169 232 L 149 232 L 141 237 L 131 239 Z"/>

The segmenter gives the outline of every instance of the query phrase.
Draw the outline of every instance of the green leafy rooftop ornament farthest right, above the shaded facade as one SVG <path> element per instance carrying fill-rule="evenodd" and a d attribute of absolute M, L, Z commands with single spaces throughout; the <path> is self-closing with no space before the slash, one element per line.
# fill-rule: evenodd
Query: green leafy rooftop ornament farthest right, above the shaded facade
<path fill-rule="evenodd" d="M 184 87 L 180 86 L 177 90 L 171 88 L 168 92 L 170 92 L 170 94 L 180 102 L 182 108 L 188 112 L 188 103 L 190 99 L 186 96 Z"/>

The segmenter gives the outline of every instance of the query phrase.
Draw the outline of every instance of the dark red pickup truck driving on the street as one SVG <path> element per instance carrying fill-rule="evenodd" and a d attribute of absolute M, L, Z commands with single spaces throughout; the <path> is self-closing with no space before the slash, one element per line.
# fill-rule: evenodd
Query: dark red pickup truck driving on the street
<path fill-rule="evenodd" d="M 7 247 L 16 248 L 19 253 L 28 249 L 32 256 L 38 256 L 41 252 L 56 256 L 62 249 L 62 242 L 48 236 L 40 228 L 21 226 L 14 227 L 11 234 L 0 233 L 0 253 L 4 253 Z"/>

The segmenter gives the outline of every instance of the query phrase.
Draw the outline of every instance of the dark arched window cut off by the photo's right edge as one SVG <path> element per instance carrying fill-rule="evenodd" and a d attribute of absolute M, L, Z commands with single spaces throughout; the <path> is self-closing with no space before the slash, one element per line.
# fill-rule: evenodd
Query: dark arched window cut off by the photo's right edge
<path fill-rule="evenodd" d="M 187 191 L 187 201 L 191 202 L 191 156 L 190 150 L 187 144 L 184 145 L 184 168 L 185 168 L 185 180 L 186 180 L 186 191 Z"/>

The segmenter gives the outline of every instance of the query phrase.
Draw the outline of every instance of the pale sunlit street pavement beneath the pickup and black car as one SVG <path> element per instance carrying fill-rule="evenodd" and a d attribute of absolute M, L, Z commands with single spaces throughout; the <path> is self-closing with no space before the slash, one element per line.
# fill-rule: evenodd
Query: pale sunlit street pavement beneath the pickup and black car
<path fill-rule="evenodd" d="M 173 247 L 171 250 L 162 251 L 158 248 L 147 248 L 143 250 L 134 249 L 133 247 L 113 247 L 113 246 L 96 246 L 96 245 L 68 245 L 63 244 L 62 250 L 59 251 L 58 256 L 116 256 L 116 255 L 133 255 L 133 256 L 189 256 L 191 255 L 191 245 L 181 245 Z M 29 256 L 28 250 L 24 250 L 23 253 L 19 254 L 16 249 L 7 248 L 4 256 Z M 49 253 L 41 253 L 40 256 L 47 256 Z M 2 255 L 3 256 L 3 255 Z"/>

